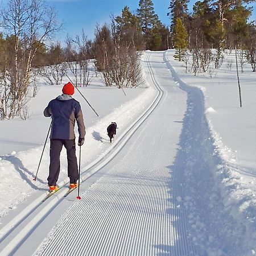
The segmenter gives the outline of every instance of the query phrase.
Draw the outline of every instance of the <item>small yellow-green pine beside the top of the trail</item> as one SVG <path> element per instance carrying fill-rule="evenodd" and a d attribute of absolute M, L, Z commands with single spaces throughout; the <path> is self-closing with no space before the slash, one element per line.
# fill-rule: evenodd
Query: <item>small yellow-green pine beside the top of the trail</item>
<path fill-rule="evenodd" d="M 180 18 L 177 18 L 175 22 L 174 47 L 176 49 L 174 57 L 181 61 L 183 59 L 185 49 L 188 47 L 188 34 Z"/>

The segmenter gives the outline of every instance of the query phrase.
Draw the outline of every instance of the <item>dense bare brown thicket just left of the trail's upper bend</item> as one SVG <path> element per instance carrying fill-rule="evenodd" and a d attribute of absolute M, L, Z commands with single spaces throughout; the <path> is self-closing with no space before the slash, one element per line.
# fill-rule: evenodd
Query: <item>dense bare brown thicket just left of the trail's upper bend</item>
<path fill-rule="evenodd" d="M 111 30 L 106 25 L 96 27 L 93 43 L 96 68 L 102 72 L 106 86 L 135 87 L 142 82 L 139 53 L 133 44 L 123 43 L 119 23 L 115 20 L 113 17 Z"/>

